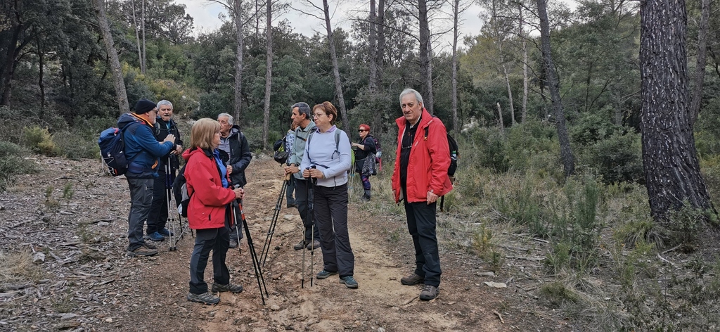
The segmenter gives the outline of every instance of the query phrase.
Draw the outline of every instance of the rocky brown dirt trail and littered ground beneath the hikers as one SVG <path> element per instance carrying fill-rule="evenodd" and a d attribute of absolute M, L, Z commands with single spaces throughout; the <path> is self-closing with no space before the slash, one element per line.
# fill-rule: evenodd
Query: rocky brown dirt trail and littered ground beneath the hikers
<path fill-rule="evenodd" d="M 215 306 L 188 302 L 192 236 L 186 233 L 176 251 L 168 251 L 164 241 L 157 243 L 161 251 L 157 256 L 128 258 L 125 232 L 130 204 L 125 179 L 105 176 L 94 160 L 37 158 L 36 162 L 39 174 L 21 176 L 0 194 L 0 330 L 570 329 L 534 295 L 541 278 L 536 276 L 539 262 L 532 255 L 508 256 L 507 272 L 493 277 L 476 256 L 445 246 L 442 234 L 441 294 L 428 302 L 418 300 L 420 286 L 400 284 L 400 277 L 414 266 L 404 214 L 377 197 L 369 203 L 353 197 L 349 207 L 358 290 L 348 290 L 335 276 L 311 279 L 310 271 L 322 269 L 319 250 L 314 259 L 305 251 L 302 277 L 303 253 L 292 250 L 302 236 L 300 217 L 297 210 L 283 205 L 263 269 L 266 304 L 261 301 L 246 240 L 241 251 L 228 253 L 233 282 L 243 284 L 245 290 L 237 295 L 222 293 Z M 282 188 L 282 169 L 271 158 L 260 156 L 253 159 L 247 174 L 244 210 L 260 255 Z M 205 275 L 212 282 L 212 266 Z M 486 282 L 508 287 L 490 287 Z"/>

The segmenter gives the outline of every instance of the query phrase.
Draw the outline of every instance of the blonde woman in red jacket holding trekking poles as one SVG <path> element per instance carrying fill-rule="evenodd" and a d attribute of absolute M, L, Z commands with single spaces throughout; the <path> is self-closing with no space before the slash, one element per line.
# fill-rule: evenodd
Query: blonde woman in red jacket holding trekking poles
<path fill-rule="evenodd" d="M 215 292 L 243 291 L 239 284 L 230 284 L 230 272 L 225 255 L 230 247 L 230 202 L 243 198 L 243 189 L 230 189 L 230 178 L 225 164 L 220 161 L 220 124 L 211 119 L 200 119 L 192 125 L 190 148 L 183 153 L 187 161 L 185 179 L 191 195 L 187 220 L 196 230 L 195 248 L 190 257 L 190 292 L 187 300 L 215 305 L 220 297 Z M 205 266 L 212 250 L 212 292 L 204 282 Z"/>

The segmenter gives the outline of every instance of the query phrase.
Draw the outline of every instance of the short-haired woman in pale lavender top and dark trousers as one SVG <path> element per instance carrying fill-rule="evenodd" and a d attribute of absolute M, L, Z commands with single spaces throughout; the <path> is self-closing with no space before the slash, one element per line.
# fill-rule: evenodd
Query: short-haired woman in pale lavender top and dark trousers
<path fill-rule="evenodd" d="M 320 230 L 323 271 L 318 279 L 340 274 L 340 282 L 357 288 L 353 274 L 355 256 L 348 235 L 348 169 L 350 139 L 335 126 L 338 110 L 330 102 L 312 107 L 317 130 L 310 133 L 302 156 L 302 176 L 315 182 L 312 204 L 315 228 Z"/>

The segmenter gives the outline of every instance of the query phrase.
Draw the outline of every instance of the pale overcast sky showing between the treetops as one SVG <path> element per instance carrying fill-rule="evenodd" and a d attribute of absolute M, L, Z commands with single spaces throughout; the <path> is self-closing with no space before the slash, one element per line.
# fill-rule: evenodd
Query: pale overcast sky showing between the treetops
<path fill-rule="evenodd" d="M 294 6 L 297 6 L 298 1 L 292 1 Z M 316 4 L 320 4 L 322 7 L 323 2 L 315 0 Z M 196 35 L 202 32 L 209 32 L 216 30 L 222 21 L 218 18 L 221 12 L 225 12 L 225 9 L 220 4 L 213 3 L 207 0 L 176 0 L 176 3 L 185 4 L 187 6 L 186 12 L 194 19 L 195 33 Z M 344 30 L 349 31 L 351 27 L 350 17 L 357 16 L 357 12 L 369 10 L 369 1 L 343 1 L 341 8 L 336 9 L 337 1 L 330 1 L 330 12 L 335 11 L 330 24 L 333 25 L 333 29 L 336 27 L 342 27 Z M 473 1 L 474 3 L 474 1 Z M 321 14 L 318 12 L 318 14 Z M 459 46 L 462 47 L 462 37 L 467 35 L 478 35 L 480 33 L 480 27 L 482 27 L 482 21 L 478 18 L 480 14 L 480 6 L 472 4 L 463 13 L 461 23 L 461 41 Z M 281 17 L 275 17 L 273 25 L 277 25 L 277 22 L 282 19 L 288 19 L 291 22 L 295 32 L 299 32 L 302 35 L 312 36 L 315 31 L 321 31 L 325 33 L 324 22 L 316 19 L 315 17 L 309 17 L 300 12 L 290 10 Z M 303 22 L 304 24 L 294 24 L 293 22 Z M 451 24 L 451 22 L 447 22 Z M 440 47 L 449 50 L 452 42 L 452 32 L 446 33 L 446 36 L 436 42 L 434 45 L 436 48 Z"/>

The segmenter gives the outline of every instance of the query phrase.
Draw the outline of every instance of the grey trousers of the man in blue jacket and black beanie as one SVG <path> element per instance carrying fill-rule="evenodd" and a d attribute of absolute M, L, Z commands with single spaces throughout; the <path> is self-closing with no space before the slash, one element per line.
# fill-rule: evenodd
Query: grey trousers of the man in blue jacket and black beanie
<path fill-rule="evenodd" d="M 143 226 L 150 215 L 153 204 L 154 179 L 127 178 L 127 187 L 130 187 L 130 213 L 127 215 L 127 250 L 133 251 L 145 244 Z"/>

